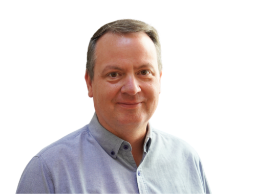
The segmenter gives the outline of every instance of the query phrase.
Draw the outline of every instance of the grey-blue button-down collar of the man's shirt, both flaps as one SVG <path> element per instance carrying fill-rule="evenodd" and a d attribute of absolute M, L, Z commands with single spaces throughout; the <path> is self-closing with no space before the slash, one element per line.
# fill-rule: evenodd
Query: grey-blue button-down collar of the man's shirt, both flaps
<path fill-rule="evenodd" d="M 108 153 L 112 158 L 116 158 L 117 153 L 120 149 L 121 144 L 124 140 L 117 137 L 110 131 L 106 130 L 102 125 L 100 125 L 96 112 L 89 124 L 89 130 L 96 141 L 100 144 L 103 150 Z M 150 124 L 147 124 L 147 134 L 144 141 L 143 150 L 148 152 L 150 149 L 152 137 L 152 130 Z"/>

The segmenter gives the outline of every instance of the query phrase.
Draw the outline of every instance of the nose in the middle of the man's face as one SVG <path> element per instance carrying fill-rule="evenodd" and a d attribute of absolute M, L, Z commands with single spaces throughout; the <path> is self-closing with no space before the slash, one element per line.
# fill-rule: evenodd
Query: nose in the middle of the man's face
<path fill-rule="evenodd" d="M 124 79 L 123 86 L 121 88 L 121 93 L 126 93 L 129 95 L 135 95 L 141 91 L 140 86 L 134 76 L 127 76 Z"/>

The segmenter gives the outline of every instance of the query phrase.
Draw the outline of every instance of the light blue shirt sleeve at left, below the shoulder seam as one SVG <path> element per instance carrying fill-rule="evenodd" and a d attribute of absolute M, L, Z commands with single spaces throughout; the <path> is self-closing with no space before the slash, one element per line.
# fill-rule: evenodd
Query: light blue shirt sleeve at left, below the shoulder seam
<path fill-rule="evenodd" d="M 16 193 L 55 193 L 47 166 L 35 156 L 26 166 Z"/>

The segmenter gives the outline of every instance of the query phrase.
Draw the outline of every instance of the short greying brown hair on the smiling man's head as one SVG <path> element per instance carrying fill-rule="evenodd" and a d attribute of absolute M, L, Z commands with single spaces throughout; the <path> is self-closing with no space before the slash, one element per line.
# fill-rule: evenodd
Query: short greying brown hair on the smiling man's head
<path fill-rule="evenodd" d="M 161 45 L 159 41 L 159 36 L 157 30 L 148 25 L 147 23 L 135 19 L 120 19 L 106 25 L 102 26 L 90 40 L 87 52 L 87 63 L 86 63 L 86 71 L 88 72 L 90 79 L 93 80 L 94 77 L 94 66 L 95 66 L 95 48 L 97 40 L 106 33 L 113 34 L 129 34 L 129 33 L 138 33 L 144 32 L 146 33 L 151 40 L 154 42 L 156 51 L 157 51 L 157 62 L 159 73 L 162 70 L 162 60 L 161 60 Z"/>

